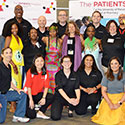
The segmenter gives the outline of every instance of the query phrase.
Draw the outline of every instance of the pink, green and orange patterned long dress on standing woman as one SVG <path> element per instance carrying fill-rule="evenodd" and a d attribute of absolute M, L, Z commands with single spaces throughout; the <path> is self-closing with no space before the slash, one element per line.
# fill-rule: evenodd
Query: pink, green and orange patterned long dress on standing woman
<path fill-rule="evenodd" d="M 61 47 L 59 44 L 56 47 L 56 39 L 50 41 L 49 47 L 46 47 L 46 57 L 45 63 L 47 72 L 49 73 L 50 88 L 49 93 L 54 93 L 55 91 L 55 74 L 60 70 L 60 55 Z"/>

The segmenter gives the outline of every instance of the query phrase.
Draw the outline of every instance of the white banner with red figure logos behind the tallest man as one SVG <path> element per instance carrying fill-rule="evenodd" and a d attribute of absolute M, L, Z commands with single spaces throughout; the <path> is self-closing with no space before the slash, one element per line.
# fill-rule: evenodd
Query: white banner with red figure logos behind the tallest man
<path fill-rule="evenodd" d="M 47 26 L 56 22 L 55 0 L 0 0 L 0 34 L 4 23 L 14 17 L 14 8 L 18 4 L 24 9 L 23 18 L 36 28 L 37 19 L 41 15 L 47 18 Z"/>

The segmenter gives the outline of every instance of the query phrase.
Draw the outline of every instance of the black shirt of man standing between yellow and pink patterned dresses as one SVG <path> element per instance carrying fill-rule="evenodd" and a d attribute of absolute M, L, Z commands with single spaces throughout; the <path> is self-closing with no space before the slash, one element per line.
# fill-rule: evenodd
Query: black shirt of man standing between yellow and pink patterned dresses
<path fill-rule="evenodd" d="M 42 54 L 43 57 L 45 57 L 45 47 L 39 42 L 37 42 L 36 45 L 33 45 L 31 41 L 28 41 L 25 44 L 22 53 L 24 54 L 24 64 L 25 70 L 27 72 L 32 65 L 33 58 L 35 57 L 35 55 Z"/>

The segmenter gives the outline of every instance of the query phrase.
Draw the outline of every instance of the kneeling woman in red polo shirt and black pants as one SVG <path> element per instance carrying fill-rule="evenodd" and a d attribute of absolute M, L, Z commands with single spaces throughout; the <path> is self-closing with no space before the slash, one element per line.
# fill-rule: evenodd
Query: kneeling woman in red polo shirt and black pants
<path fill-rule="evenodd" d="M 53 95 L 47 93 L 49 88 L 49 76 L 46 73 L 44 59 L 38 54 L 34 57 L 33 65 L 28 70 L 24 90 L 28 93 L 26 116 L 33 118 L 49 119 L 44 113 L 52 103 Z M 35 104 L 39 111 L 36 113 Z"/>

